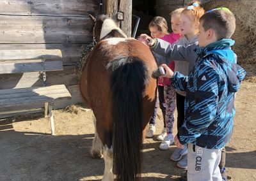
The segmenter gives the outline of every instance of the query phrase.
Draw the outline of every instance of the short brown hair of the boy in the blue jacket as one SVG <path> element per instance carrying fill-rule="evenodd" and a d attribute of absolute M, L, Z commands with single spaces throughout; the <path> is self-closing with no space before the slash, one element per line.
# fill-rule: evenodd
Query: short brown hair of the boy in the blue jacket
<path fill-rule="evenodd" d="M 231 11 L 227 10 L 214 10 L 205 13 L 200 18 L 200 23 L 204 27 L 204 31 L 213 29 L 217 40 L 230 38 L 236 29 L 236 18 Z"/>

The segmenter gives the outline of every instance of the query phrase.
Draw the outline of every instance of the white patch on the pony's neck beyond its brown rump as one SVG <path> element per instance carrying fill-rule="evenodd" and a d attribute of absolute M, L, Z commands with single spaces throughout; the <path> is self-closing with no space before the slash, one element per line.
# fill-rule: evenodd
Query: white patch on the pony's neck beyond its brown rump
<path fill-rule="evenodd" d="M 100 32 L 100 40 L 104 38 L 107 34 L 109 34 L 113 29 L 116 29 L 124 38 L 127 38 L 127 35 L 124 34 L 124 32 L 116 26 L 115 22 L 111 19 L 104 20 L 102 24 L 102 29 Z"/>

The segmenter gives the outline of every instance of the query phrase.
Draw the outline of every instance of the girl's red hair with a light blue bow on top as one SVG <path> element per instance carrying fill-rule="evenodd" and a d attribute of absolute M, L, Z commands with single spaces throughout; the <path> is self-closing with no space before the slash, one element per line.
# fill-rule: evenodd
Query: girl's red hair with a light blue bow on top
<path fill-rule="evenodd" d="M 194 4 L 198 4 L 198 6 L 194 6 Z M 204 8 L 200 6 L 200 2 L 194 1 L 193 3 L 189 3 L 186 8 L 182 11 L 183 14 L 187 15 L 192 22 L 199 22 L 200 17 L 204 15 Z"/>

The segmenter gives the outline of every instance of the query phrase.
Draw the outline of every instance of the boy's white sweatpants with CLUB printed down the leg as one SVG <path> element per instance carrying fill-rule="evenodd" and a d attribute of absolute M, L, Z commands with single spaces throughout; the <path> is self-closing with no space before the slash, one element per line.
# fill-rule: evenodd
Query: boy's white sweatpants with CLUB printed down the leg
<path fill-rule="evenodd" d="M 188 181 L 222 181 L 220 149 L 207 149 L 188 143 Z"/>

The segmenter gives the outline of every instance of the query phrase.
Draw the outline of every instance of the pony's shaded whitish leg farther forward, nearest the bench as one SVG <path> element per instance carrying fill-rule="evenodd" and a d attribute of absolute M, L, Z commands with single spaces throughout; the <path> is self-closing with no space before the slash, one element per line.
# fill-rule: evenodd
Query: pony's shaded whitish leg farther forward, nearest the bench
<path fill-rule="evenodd" d="M 95 127 L 95 134 L 94 134 L 94 138 L 92 141 L 92 148 L 91 148 L 91 157 L 92 158 L 98 158 L 102 156 L 102 142 L 99 138 L 99 135 L 97 133 L 97 129 L 96 129 L 96 118 L 94 117 L 93 119 L 94 122 L 94 127 Z"/>

